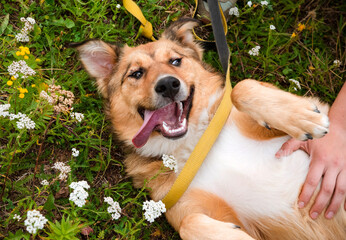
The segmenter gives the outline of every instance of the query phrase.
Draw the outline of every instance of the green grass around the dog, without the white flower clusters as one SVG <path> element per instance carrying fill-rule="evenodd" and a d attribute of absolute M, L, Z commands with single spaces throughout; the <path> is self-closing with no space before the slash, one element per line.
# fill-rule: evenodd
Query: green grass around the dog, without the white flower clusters
<path fill-rule="evenodd" d="M 240 16 L 228 22 L 232 84 L 254 78 L 332 103 L 345 77 L 343 1 L 278 0 L 268 7 L 252 1 L 256 7 L 251 8 L 246 2 L 238 1 Z M 173 20 L 191 16 L 194 8 L 193 1 L 137 3 L 156 36 Z M 149 199 L 145 187 L 134 189 L 126 177 L 123 151 L 105 119 L 102 99 L 76 51 L 67 48 L 70 42 L 90 38 L 130 46 L 148 42 L 138 34 L 139 22 L 117 4 L 121 2 L 0 1 L 0 106 L 10 103 L 10 113 L 25 113 L 36 123 L 32 130 L 18 129 L 16 120 L 0 116 L 0 238 L 179 239 L 164 217 L 152 224 L 144 219 L 142 204 Z M 14 37 L 23 27 L 21 17 L 36 20 L 28 43 Z M 270 25 L 276 29 L 270 30 Z M 201 32 L 205 36 L 208 30 Z M 19 77 L 10 86 L 7 67 L 24 59 L 16 55 L 20 46 L 30 49 L 25 61 L 36 74 Z M 259 55 L 249 55 L 255 46 L 261 47 Z M 336 59 L 340 67 L 333 64 Z M 207 51 L 205 60 L 220 69 L 215 51 Z M 299 81 L 301 89 L 289 79 Z M 52 84 L 74 94 L 73 110 L 57 113 L 39 97 Z M 18 88 L 27 89 L 23 98 Z M 71 111 L 83 113 L 84 119 L 76 121 Z M 71 155 L 72 148 L 80 151 L 78 157 Z M 59 172 L 51 168 L 55 162 L 71 167 L 67 181 L 57 178 Z M 48 186 L 40 184 L 44 179 Z M 83 207 L 69 201 L 69 184 L 80 180 L 91 186 Z M 119 202 L 118 220 L 107 213 L 106 196 Z M 49 220 L 34 235 L 24 226 L 32 209 Z M 21 220 L 13 219 L 15 214 Z"/>

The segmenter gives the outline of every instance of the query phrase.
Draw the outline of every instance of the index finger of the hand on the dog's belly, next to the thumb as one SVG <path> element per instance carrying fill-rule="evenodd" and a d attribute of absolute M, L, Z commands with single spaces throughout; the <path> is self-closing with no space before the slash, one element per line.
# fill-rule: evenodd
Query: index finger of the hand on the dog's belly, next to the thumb
<path fill-rule="evenodd" d="M 319 184 L 324 172 L 324 165 L 321 163 L 312 163 L 303 184 L 302 192 L 299 195 L 298 206 L 303 208 L 310 201 L 317 185 Z"/>

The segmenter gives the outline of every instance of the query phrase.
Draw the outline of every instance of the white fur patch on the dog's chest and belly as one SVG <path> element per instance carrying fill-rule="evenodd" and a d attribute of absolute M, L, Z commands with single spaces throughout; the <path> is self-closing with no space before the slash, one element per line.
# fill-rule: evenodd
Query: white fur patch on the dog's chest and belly
<path fill-rule="evenodd" d="M 190 185 L 216 194 L 246 216 L 279 216 L 292 211 L 309 166 L 302 151 L 276 159 L 289 137 L 255 141 L 227 125 Z"/>

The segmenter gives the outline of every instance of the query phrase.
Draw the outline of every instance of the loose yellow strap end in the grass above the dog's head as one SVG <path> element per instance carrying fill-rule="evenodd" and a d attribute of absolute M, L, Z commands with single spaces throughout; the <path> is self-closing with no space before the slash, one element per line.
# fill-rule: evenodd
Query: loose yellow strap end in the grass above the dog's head
<path fill-rule="evenodd" d="M 139 32 L 144 37 L 155 41 L 156 39 L 153 36 L 153 25 L 144 17 L 138 5 L 132 0 L 123 0 L 123 5 L 129 13 L 141 22 L 142 25 L 139 27 Z"/>

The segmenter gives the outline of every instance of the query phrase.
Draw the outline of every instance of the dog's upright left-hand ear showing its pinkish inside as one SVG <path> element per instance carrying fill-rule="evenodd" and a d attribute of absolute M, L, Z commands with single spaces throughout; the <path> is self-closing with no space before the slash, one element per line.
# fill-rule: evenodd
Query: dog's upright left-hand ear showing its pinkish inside
<path fill-rule="evenodd" d="M 100 40 L 71 44 L 76 47 L 84 68 L 96 83 L 103 97 L 108 98 L 108 82 L 119 57 L 119 47 Z"/>

